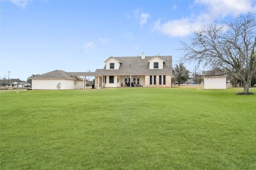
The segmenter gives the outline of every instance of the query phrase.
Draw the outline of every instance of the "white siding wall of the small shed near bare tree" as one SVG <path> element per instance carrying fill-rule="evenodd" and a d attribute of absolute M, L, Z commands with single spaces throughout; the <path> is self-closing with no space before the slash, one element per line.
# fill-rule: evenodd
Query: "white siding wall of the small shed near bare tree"
<path fill-rule="evenodd" d="M 204 77 L 204 89 L 226 89 L 226 77 Z"/>

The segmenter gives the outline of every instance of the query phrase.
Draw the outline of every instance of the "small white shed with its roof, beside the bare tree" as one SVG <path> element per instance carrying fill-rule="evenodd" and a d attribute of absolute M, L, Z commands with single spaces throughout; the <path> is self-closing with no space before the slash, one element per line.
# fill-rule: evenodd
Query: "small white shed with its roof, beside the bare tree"
<path fill-rule="evenodd" d="M 226 77 L 224 73 L 214 73 L 212 71 L 203 71 L 204 89 L 226 89 Z"/>

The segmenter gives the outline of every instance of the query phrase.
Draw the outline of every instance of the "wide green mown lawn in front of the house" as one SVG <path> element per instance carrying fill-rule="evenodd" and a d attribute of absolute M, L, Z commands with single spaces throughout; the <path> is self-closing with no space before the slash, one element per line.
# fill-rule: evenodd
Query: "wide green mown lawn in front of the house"
<path fill-rule="evenodd" d="M 198 87 L 1 91 L 0 169 L 255 170 L 256 95 Z"/>

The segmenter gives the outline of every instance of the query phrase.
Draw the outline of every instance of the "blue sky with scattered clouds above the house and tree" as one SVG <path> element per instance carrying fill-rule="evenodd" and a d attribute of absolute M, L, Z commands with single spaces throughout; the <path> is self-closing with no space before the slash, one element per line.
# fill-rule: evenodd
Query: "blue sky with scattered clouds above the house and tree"
<path fill-rule="evenodd" d="M 94 72 L 110 56 L 141 53 L 172 55 L 174 65 L 190 31 L 247 11 L 256 13 L 256 1 L 1 0 L 0 76 Z"/>

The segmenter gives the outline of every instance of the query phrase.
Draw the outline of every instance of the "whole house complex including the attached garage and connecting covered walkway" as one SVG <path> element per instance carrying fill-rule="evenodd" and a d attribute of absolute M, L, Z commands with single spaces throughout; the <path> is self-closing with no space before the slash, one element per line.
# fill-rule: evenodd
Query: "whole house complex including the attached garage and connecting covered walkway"
<path fill-rule="evenodd" d="M 86 89 L 86 76 L 94 76 L 95 88 L 171 87 L 172 56 L 109 57 L 95 72 L 55 70 L 30 78 L 32 89 Z"/>

